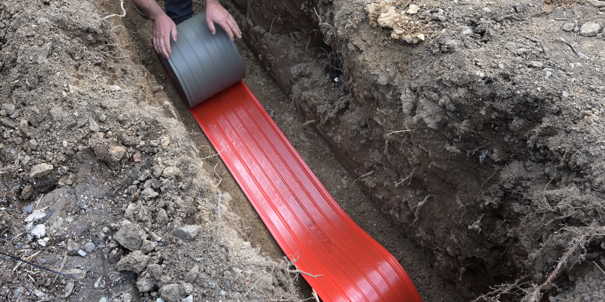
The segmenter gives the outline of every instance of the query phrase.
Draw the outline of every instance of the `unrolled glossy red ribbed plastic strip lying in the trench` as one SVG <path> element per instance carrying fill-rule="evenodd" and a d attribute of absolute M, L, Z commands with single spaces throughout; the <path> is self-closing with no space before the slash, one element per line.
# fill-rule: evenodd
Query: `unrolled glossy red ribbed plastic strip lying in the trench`
<path fill-rule="evenodd" d="M 323 301 L 422 302 L 399 262 L 345 214 L 238 82 L 191 109 L 281 249 Z"/>

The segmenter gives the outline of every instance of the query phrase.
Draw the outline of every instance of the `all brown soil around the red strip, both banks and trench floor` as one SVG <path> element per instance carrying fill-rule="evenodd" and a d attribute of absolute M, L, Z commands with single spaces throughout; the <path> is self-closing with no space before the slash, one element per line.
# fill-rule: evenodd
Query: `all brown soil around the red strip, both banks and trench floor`
<path fill-rule="evenodd" d="M 216 151 L 157 62 L 151 22 L 124 5 L 125 18 L 103 19 L 120 5 L 0 1 L 0 239 L 27 230 L 30 211 L 54 209 L 45 235 L 2 240 L 0 251 L 85 274 L 54 280 L 2 259 L 0 298 L 65 300 L 70 284 L 69 301 L 154 301 L 168 284 L 194 301 L 311 297 L 220 158 L 209 157 Z M 538 300 L 604 299 L 605 41 L 602 31 L 561 30 L 604 25 L 598 8 L 224 5 L 244 31 L 244 82 L 424 301 L 471 300 L 498 284 L 508 294 L 479 300 L 529 300 L 561 260 Z M 400 14 L 412 5 L 416 13 Z M 42 164 L 53 167 L 36 177 Z M 115 238 L 125 220 L 162 240 L 131 252 Z M 201 226 L 194 240 L 172 235 L 190 224 Z M 85 257 L 67 255 L 89 242 Z M 145 263 L 124 269 L 120 258 Z"/>

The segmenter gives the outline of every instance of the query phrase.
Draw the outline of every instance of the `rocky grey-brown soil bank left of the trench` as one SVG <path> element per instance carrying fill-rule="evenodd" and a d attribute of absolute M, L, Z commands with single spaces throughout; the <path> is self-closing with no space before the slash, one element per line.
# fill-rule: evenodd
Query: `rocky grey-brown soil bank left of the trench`
<path fill-rule="evenodd" d="M 238 234 L 122 13 L 0 2 L 0 251 L 74 277 L 2 258 L 0 298 L 296 298 L 290 263 Z"/>

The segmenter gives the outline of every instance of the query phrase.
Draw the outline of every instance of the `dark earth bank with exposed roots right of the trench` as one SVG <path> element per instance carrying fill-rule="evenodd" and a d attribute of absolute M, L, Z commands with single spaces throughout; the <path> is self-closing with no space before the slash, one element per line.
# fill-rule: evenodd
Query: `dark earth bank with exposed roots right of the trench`
<path fill-rule="evenodd" d="M 605 225 L 598 7 L 267 0 L 231 8 L 293 106 L 466 297 L 522 277 L 527 291 L 544 286 L 508 298 L 587 288 L 574 285 L 585 274 L 575 263 L 601 261 Z"/>

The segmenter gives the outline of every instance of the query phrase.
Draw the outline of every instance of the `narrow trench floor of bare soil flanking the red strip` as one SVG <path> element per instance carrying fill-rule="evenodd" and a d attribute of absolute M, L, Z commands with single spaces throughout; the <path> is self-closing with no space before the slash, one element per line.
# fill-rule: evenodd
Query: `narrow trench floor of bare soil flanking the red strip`
<path fill-rule="evenodd" d="M 194 11 L 201 11 L 200 4 L 194 3 Z M 155 76 L 157 84 L 164 87 L 185 128 L 196 143 L 200 156 L 216 154 L 217 151 L 212 148 L 208 138 L 178 97 L 157 60 L 151 44 L 152 22 L 140 17 L 130 3 L 124 21 L 132 41 L 140 51 L 143 64 Z M 436 269 L 433 269 L 434 260 L 431 258 L 433 253 L 414 245 L 400 231 L 402 226 L 394 225 L 374 206 L 360 187 L 353 183 L 354 179 L 336 159 L 328 143 L 312 127 L 302 127 L 306 118 L 296 112 L 289 97 L 266 74 L 244 41 L 238 40 L 236 44 L 246 66 L 247 77 L 244 82 L 267 111 L 272 112 L 273 120 L 342 209 L 399 260 L 425 302 L 463 301 L 456 291 L 456 284 L 443 280 Z M 236 227 L 240 229 L 240 235 L 244 240 L 250 241 L 254 248 L 260 248 L 261 254 L 269 255 L 276 261 L 282 260 L 284 252 L 281 251 L 224 163 L 219 157 L 211 157 L 206 161 L 209 165 L 204 166 L 210 174 L 214 174 L 213 170 L 215 170 L 221 177 L 221 190 L 231 194 L 231 203 L 234 205 L 232 211 L 242 218 L 242 225 Z M 303 279 L 299 278 L 299 280 Z M 310 287 L 306 282 L 302 281 L 302 283 L 298 284 L 301 294 L 309 297 Z"/>

